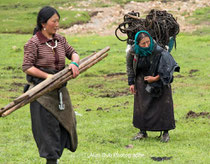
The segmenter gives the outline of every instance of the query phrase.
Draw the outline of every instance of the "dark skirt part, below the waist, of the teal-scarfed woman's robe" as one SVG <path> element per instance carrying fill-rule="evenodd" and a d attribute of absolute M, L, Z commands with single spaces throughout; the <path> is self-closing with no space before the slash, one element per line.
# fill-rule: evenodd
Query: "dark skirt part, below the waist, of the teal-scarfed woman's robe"
<path fill-rule="evenodd" d="M 175 128 L 171 86 L 164 86 L 163 94 L 156 98 L 145 91 L 144 76 L 136 78 L 137 93 L 134 96 L 133 125 L 147 131 L 163 131 Z"/>

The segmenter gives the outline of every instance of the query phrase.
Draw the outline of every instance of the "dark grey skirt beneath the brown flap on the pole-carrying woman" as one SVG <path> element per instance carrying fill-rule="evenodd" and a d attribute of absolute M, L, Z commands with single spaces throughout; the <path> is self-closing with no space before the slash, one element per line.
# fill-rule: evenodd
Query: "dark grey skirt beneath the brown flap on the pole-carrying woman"
<path fill-rule="evenodd" d="M 70 137 L 59 121 L 41 104 L 30 104 L 32 132 L 40 157 L 59 159 L 64 148 L 70 149 Z"/>

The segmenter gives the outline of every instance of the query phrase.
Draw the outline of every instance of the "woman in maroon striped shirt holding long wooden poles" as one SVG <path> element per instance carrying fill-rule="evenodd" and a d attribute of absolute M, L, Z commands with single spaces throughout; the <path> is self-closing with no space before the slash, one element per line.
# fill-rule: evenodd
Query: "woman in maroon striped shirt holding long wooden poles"
<path fill-rule="evenodd" d="M 56 9 L 43 7 L 37 16 L 33 37 L 24 46 L 22 69 L 30 88 L 51 78 L 65 67 L 65 57 L 71 60 L 73 77 L 79 75 L 79 55 L 56 33 L 60 15 Z M 66 86 L 57 88 L 30 104 L 33 136 L 40 157 L 47 163 L 58 163 L 64 148 L 76 151 L 76 118 Z"/>

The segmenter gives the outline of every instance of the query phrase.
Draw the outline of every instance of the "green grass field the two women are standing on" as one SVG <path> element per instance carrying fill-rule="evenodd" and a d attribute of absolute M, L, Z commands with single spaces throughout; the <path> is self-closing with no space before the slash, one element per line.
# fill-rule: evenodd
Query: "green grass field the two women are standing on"
<path fill-rule="evenodd" d="M 23 45 L 30 37 L 0 35 L 0 107 L 22 93 Z M 125 74 L 107 76 L 125 73 L 125 43 L 114 36 L 67 36 L 67 40 L 81 58 L 106 46 L 111 50 L 107 58 L 67 85 L 74 109 L 82 116 L 77 116 L 78 149 L 75 153 L 65 150 L 60 163 L 156 163 L 151 160 L 153 156 L 172 156 L 166 161 L 169 163 L 210 162 L 209 118 L 186 119 L 190 110 L 209 112 L 208 36 L 180 34 L 177 37 L 177 50 L 172 51 L 181 67 L 172 84 L 176 129 L 170 132 L 171 141 L 167 144 L 156 139 L 159 135 L 156 132 L 149 132 L 146 140 L 130 140 L 138 130 L 132 126 L 133 95 L 128 91 L 127 77 Z M 116 97 L 109 98 L 107 94 Z M 99 107 L 103 110 L 97 110 Z M 0 118 L 0 141 L 0 163 L 45 163 L 39 158 L 32 136 L 29 105 Z M 127 149 L 129 144 L 133 148 Z"/>

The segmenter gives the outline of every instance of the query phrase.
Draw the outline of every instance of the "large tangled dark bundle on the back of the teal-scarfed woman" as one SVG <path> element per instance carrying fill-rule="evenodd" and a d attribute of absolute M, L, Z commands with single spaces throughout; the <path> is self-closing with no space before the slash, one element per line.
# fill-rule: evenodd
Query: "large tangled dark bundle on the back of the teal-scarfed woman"
<path fill-rule="evenodd" d="M 127 34 L 127 39 L 119 38 L 117 32 L 120 30 Z M 179 24 L 172 14 L 167 11 L 151 10 L 145 19 L 140 18 L 139 12 L 129 12 L 124 16 L 124 22 L 115 30 L 115 35 L 120 41 L 134 43 L 135 34 L 140 30 L 148 31 L 152 38 L 163 48 L 169 44 L 170 37 L 176 41 L 179 33 Z M 175 42 L 176 43 L 176 42 Z"/>

